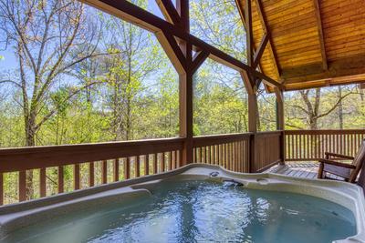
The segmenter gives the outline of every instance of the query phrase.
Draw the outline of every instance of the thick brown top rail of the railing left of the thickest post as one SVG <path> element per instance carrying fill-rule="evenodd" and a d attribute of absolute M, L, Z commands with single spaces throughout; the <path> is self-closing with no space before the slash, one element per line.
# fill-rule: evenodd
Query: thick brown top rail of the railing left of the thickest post
<path fill-rule="evenodd" d="M 0 172 L 57 167 L 183 149 L 183 138 L 162 138 L 99 144 L 18 147 L 0 150 Z"/>

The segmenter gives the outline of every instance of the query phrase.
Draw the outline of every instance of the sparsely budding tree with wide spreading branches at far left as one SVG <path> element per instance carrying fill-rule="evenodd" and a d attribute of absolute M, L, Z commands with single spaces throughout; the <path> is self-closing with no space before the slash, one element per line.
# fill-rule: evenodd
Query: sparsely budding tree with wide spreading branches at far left
<path fill-rule="evenodd" d="M 0 80 L 21 94 L 18 101 L 25 121 L 27 147 L 36 145 L 36 133 L 57 114 L 50 93 L 68 86 L 68 96 L 76 96 L 87 85 L 78 85 L 68 73 L 78 63 L 98 56 L 98 24 L 85 14 L 85 7 L 69 0 L 0 0 L 0 45 L 13 49 L 17 72 Z M 72 55 L 71 55 L 72 54 Z M 31 188 L 32 174 L 27 188 Z M 27 194 L 32 195 L 32 192 Z"/>

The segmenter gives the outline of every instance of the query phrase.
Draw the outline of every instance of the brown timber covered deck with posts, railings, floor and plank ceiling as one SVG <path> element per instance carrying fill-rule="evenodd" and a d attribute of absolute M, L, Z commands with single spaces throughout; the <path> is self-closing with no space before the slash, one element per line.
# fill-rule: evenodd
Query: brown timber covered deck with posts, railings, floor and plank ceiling
<path fill-rule="evenodd" d="M 49 196 L 47 169 L 57 170 L 57 193 L 64 192 L 63 168 L 73 167 L 74 190 L 163 173 L 205 163 L 244 173 L 267 171 L 316 177 L 325 152 L 355 156 L 365 129 L 287 130 L 283 92 L 365 81 L 365 2 L 237 0 L 245 25 L 247 63 L 190 34 L 189 1 L 157 0 L 165 19 L 127 0 L 86 0 L 111 15 L 157 36 L 179 74 L 179 137 L 99 144 L 0 149 L 0 204 L 4 175 L 17 173 L 17 201 L 29 197 L 26 171 L 38 172 L 39 197 Z M 206 58 L 237 70 L 248 94 L 248 132 L 193 136 L 193 76 Z M 257 89 L 276 94 L 276 131 L 257 131 Z M 297 163 L 295 161 L 313 161 Z M 288 162 L 288 163 L 287 163 Z M 285 164 L 287 163 L 287 164 Z M 365 163 L 364 163 L 365 164 Z M 87 167 L 87 173 L 80 173 Z M 98 172 L 97 172 L 98 169 Z M 365 170 L 360 184 L 364 185 Z"/>

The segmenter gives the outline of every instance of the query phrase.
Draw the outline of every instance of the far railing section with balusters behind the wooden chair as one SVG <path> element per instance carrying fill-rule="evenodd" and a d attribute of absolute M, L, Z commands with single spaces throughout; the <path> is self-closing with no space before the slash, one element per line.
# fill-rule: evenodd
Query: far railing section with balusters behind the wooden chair
<path fill-rule="evenodd" d="M 286 130 L 286 160 L 316 160 L 333 152 L 354 157 L 365 129 L 357 130 Z"/>

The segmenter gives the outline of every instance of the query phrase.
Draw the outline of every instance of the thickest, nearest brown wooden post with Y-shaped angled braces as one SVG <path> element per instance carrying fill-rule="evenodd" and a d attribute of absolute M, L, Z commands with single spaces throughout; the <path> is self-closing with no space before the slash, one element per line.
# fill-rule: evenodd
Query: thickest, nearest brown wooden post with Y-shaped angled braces
<path fill-rule="evenodd" d="M 159 1 L 159 3 L 164 15 L 174 15 L 172 6 L 167 1 Z M 170 14 L 167 9 L 170 9 Z M 177 0 L 176 11 L 179 16 L 174 19 L 179 25 L 174 25 L 175 29 L 189 34 L 189 0 Z M 173 24 L 173 20 L 171 22 Z M 179 159 L 179 167 L 181 167 L 193 163 L 193 76 L 210 53 L 204 50 L 193 56 L 193 45 L 190 41 L 181 38 L 177 40 L 166 31 L 157 32 L 156 36 L 179 74 L 179 135 L 185 138 L 181 159 Z"/>

